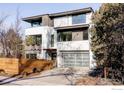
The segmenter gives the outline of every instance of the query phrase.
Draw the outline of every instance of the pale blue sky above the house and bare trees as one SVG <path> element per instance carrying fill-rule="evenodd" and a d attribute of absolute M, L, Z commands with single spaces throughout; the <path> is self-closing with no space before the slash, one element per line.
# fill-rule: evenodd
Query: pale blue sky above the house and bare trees
<path fill-rule="evenodd" d="M 0 15 L 9 15 L 7 23 L 8 25 L 10 25 L 15 20 L 17 8 L 19 8 L 21 18 L 23 18 L 28 16 L 56 13 L 86 7 L 92 7 L 94 10 L 97 10 L 100 6 L 100 3 L 0 3 Z M 22 26 L 23 28 L 26 28 L 28 24 L 26 22 L 22 22 Z"/>

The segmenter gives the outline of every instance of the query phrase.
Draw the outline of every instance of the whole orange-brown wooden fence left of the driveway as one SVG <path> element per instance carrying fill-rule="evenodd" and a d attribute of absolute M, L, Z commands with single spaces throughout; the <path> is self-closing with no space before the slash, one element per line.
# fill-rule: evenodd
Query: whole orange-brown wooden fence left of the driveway
<path fill-rule="evenodd" d="M 0 58 L 0 74 L 16 75 L 25 71 L 29 73 L 33 71 L 34 68 L 49 70 L 54 67 L 54 63 L 52 60 L 44 59 Z"/>

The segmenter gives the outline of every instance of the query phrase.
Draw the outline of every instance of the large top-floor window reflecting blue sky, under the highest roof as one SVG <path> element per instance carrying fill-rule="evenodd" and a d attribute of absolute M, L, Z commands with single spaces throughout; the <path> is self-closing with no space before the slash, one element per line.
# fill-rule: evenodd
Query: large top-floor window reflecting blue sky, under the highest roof
<path fill-rule="evenodd" d="M 72 24 L 86 23 L 86 14 L 78 14 L 72 16 Z"/>

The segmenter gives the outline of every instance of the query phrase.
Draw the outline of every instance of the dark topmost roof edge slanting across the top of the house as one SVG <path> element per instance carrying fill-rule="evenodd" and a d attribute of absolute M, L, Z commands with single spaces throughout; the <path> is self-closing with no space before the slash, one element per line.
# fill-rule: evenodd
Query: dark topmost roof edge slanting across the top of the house
<path fill-rule="evenodd" d="M 64 12 L 59 12 L 59 13 L 30 16 L 30 17 L 22 18 L 22 20 L 26 21 L 26 22 L 31 22 L 32 20 L 38 20 L 38 19 L 42 18 L 42 16 L 44 16 L 44 15 L 48 15 L 51 18 L 55 18 L 55 17 L 60 17 L 60 16 L 74 15 L 74 14 L 80 14 L 80 13 L 89 13 L 89 12 L 93 12 L 93 9 L 91 7 L 76 9 L 76 10 L 70 10 L 70 11 L 64 11 Z"/>

